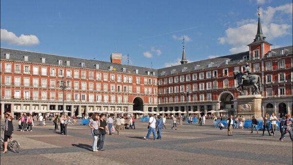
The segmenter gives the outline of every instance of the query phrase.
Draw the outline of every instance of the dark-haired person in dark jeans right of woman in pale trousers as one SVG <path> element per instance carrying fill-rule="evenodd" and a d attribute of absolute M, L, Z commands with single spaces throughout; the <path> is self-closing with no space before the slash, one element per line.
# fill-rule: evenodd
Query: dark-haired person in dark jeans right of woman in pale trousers
<path fill-rule="evenodd" d="M 107 127 L 107 122 L 105 121 L 105 114 L 100 115 L 100 125 L 99 125 L 99 141 L 98 141 L 98 150 L 104 151 L 104 142 L 106 134 L 109 134 L 109 130 Z"/>

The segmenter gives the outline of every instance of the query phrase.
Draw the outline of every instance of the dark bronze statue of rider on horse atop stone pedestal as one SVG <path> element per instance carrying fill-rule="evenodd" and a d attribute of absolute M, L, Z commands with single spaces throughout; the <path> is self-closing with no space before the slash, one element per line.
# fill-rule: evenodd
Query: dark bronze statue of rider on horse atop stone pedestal
<path fill-rule="evenodd" d="M 236 89 L 238 92 L 241 93 L 241 95 L 244 95 L 243 87 L 249 87 L 251 85 L 254 87 L 254 90 L 252 92 L 253 94 L 255 94 L 255 92 L 257 94 L 260 94 L 260 92 L 262 91 L 260 77 L 259 75 L 251 74 L 248 63 L 245 66 L 245 71 L 243 72 L 234 71 L 233 75 L 234 75 L 234 79 L 237 79 L 237 82 L 238 82 L 238 87 L 236 87 Z M 241 91 L 239 91 L 240 87 L 241 87 Z"/>

